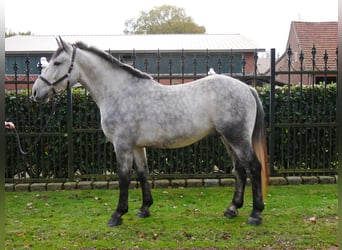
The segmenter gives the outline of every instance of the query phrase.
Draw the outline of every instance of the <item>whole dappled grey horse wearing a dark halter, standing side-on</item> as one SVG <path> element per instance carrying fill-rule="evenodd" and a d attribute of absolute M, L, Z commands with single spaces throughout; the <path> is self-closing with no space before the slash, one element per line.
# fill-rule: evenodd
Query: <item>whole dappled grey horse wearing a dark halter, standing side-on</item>
<path fill-rule="evenodd" d="M 120 225 L 128 211 L 133 162 L 143 196 L 137 216 L 150 216 L 153 199 L 146 147 L 184 147 L 211 134 L 221 137 L 236 176 L 234 196 L 224 216 L 237 216 L 248 177 L 253 193 L 248 223 L 262 223 L 268 166 L 264 112 L 255 89 L 216 74 L 164 86 L 104 51 L 82 42 L 72 45 L 61 38 L 57 42 L 58 49 L 33 85 L 33 99 L 47 101 L 81 83 L 98 105 L 103 132 L 114 145 L 119 164 L 120 195 L 109 226 Z"/>

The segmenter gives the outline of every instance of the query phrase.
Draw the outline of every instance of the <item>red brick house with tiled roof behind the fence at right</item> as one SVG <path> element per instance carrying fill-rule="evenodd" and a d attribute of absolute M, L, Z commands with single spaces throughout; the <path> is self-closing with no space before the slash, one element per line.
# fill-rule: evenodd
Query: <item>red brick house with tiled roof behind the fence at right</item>
<path fill-rule="evenodd" d="M 291 23 L 286 48 L 291 48 L 291 84 L 318 84 L 336 82 L 338 22 L 298 22 Z M 313 55 L 314 54 L 314 55 Z M 302 57 L 301 57 L 302 56 Z M 276 62 L 276 72 L 288 71 L 288 49 Z M 276 80 L 287 83 L 288 76 L 277 75 Z"/>

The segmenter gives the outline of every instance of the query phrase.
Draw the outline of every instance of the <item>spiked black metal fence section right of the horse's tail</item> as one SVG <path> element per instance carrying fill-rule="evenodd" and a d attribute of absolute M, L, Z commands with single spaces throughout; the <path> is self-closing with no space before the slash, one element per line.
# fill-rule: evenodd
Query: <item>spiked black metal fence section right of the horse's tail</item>
<path fill-rule="evenodd" d="M 294 60 L 289 47 L 283 70 L 276 70 L 271 56 L 269 151 L 274 173 L 337 173 L 337 49 L 330 60 L 327 50 L 321 52 L 313 45 Z M 282 98 L 276 97 L 276 79 L 284 83 Z"/>

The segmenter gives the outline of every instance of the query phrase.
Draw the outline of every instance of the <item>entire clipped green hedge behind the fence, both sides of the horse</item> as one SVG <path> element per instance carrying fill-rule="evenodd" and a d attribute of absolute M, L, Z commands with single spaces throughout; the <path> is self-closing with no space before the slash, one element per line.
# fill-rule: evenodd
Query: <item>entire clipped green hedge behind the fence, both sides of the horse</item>
<path fill-rule="evenodd" d="M 269 87 L 257 88 L 269 126 Z M 7 131 L 6 178 L 26 175 L 30 178 L 68 177 L 68 140 L 66 94 L 53 102 L 38 104 L 26 90 L 6 91 L 6 116 L 16 123 L 24 148 L 38 136 L 56 112 L 42 139 L 28 155 L 18 153 L 12 131 Z M 276 170 L 335 169 L 336 84 L 287 86 L 276 88 L 275 152 Z M 73 173 L 115 178 L 116 161 L 112 145 L 100 129 L 99 110 L 89 93 L 73 90 Z M 268 129 L 269 133 L 269 129 Z M 212 136 L 192 146 L 174 149 L 148 149 L 148 163 L 153 176 L 206 175 L 231 173 L 230 159 L 219 138 Z M 99 178 L 99 177 L 97 177 Z"/>

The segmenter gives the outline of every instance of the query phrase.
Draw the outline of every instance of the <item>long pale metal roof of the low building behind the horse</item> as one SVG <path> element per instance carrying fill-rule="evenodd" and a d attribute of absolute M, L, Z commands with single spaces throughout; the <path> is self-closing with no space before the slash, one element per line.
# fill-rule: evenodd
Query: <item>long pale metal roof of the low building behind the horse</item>
<path fill-rule="evenodd" d="M 162 34 L 162 35 L 65 35 L 63 40 L 82 41 L 102 50 L 132 52 L 227 51 L 263 52 L 264 48 L 240 34 Z M 13 36 L 5 39 L 5 52 L 52 53 L 56 50 L 56 36 Z"/>

